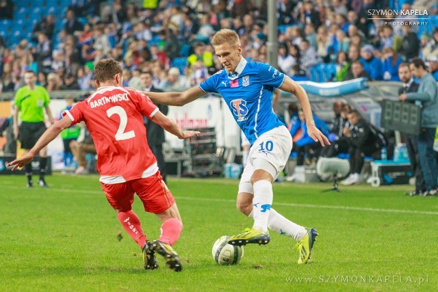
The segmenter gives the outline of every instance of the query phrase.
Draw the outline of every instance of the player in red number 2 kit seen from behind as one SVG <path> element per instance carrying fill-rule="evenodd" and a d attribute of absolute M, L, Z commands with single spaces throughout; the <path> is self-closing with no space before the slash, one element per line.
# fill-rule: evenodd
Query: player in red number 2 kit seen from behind
<path fill-rule="evenodd" d="M 182 131 L 158 110 L 148 96 L 123 88 L 122 67 L 114 59 L 99 61 L 94 70 L 96 92 L 70 111 L 65 111 L 64 117 L 44 132 L 27 155 L 8 163 L 8 166 L 15 170 L 30 163 L 36 153 L 63 129 L 86 122 L 96 145 L 101 187 L 108 202 L 118 211 L 123 228 L 142 248 L 144 268 L 158 267 L 157 252 L 164 256 L 170 269 L 181 271 L 179 256 L 172 248 L 183 228 L 181 216 L 149 149 L 142 115 L 180 139 L 190 139 L 200 133 Z M 138 216 L 132 211 L 134 193 L 142 200 L 144 210 L 155 213 L 163 222 L 161 236 L 153 242 L 148 241 Z"/>

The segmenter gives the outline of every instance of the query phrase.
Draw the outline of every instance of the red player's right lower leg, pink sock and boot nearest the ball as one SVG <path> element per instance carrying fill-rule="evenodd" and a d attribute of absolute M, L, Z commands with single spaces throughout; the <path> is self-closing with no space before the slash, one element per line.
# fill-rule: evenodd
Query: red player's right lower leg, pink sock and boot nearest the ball
<path fill-rule="evenodd" d="M 174 203 L 170 208 L 161 213 L 156 213 L 157 217 L 162 220 L 162 234 L 159 239 L 153 241 L 153 249 L 158 252 L 166 261 L 169 269 L 181 271 L 181 261 L 177 252 L 172 248 L 172 245 L 179 239 L 183 224 L 179 215 L 177 204 Z"/>

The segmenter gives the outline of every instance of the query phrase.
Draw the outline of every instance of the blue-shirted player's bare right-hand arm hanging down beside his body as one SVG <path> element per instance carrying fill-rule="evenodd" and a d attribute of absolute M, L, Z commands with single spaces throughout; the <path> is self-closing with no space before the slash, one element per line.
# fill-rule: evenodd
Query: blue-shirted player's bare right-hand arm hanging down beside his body
<path fill-rule="evenodd" d="M 298 99 L 298 103 L 300 103 L 302 111 L 306 118 L 307 124 L 307 133 L 309 136 L 315 141 L 320 142 L 322 146 L 330 145 L 329 139 L 324 136 L 318 128 L 315 126 L 315 121 L 313 120 L 312 110 L 309 103 L 309 97 L 305 92 L 304 88 L 301 87 L 298 83 L 290 79 L 290 77 L 285 75 L 285 80 L 283 84 L 280 86 L 281 90 L 285 92 L 290 92 L 296 96 Z"/>

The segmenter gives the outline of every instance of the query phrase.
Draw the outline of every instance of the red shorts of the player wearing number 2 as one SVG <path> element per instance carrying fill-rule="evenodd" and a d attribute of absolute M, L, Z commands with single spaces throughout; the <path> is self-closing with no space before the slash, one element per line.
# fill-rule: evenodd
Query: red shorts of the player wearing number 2
<path fill-rule="evenodd" d="M 142 200 L 144 211 L 150 213 L 164 212 L 175 203 L 175 198 L 173 198 L 159 172 L 126 183 L 116 183 L 114 185 L 101 183 L 101 187 L 107 196 L 108 202 L 118 211 L 131 211 L 134 193 Z"/>

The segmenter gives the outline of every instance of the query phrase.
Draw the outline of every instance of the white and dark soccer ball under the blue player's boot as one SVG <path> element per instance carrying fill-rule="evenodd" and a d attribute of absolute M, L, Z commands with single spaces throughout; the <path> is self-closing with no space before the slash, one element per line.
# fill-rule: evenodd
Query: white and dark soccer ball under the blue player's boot
<path fill-rule="evenodd" d="M 227 235 L 220 237 L 211 250 L 214 261 L 219 265 L 236 265 L 244 257 L 243 246 L 231 245 L 227 242 L 228 239 Z"/>

